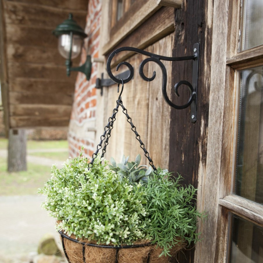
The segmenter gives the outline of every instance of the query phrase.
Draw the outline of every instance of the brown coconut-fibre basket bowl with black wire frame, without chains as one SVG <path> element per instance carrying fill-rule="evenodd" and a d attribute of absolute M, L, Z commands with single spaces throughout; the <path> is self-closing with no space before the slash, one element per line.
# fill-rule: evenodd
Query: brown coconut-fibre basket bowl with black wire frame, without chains
<path fill-rule="evenodd" d="M 85 239 L 68 237 L 59 231 L 62 247 L 69 263 L 169 263 L 171 257 L 159 257 L 162 249 L 141 240 L 130 246 L 97 245 Z M 184 245 L 177 244 L 170 253 L 176 253 Z"/>

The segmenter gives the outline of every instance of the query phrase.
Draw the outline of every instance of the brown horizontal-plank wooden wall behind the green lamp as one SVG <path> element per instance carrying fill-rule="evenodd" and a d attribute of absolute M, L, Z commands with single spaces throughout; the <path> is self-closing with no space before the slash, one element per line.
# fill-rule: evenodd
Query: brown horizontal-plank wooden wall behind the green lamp
<path fill-rule="evenodd" d="M 84 27 L 87 0 L 2 0 L 2 8 L 9 128 L 68 126 L 76 73 L 66 76 L 52 30 L 70 12 Z"/>

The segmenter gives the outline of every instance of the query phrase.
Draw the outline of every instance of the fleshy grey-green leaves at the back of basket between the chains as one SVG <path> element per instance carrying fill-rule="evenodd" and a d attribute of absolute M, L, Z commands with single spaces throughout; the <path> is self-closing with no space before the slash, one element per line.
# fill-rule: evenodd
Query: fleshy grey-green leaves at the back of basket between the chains
<path fill-rule="evenodd" d="M 118 173 L 122 178 L 128 178 L 129 182 L 134 183 L 146 183 L 149 179 L 153 178 L 154 172 L 151 166 L 139 165 L 141 162 L 141 155 L 137 155 L 134 162 L 128 162 L 129 160 L 123 155 L 121 163 L 117 164 L 113 158 L 110 158 L 112 165 L 108 165 L 109 168 Z"/>

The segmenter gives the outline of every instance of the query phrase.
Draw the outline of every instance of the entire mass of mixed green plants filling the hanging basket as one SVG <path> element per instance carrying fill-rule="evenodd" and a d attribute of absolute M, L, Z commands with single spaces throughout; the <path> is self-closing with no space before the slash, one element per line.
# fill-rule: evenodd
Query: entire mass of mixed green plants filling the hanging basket
<path fill-rule="evenodd" d="M 160 246 L 161 255 L 176 244 L 198 241 L 196 223 L 204 214 L 193 205 L 196 189 L 183 187 L 183 178 L 166 169 L 139 167 L 139 159 L 124 158 L 122 165 L 112 159 L 108 165 L 98 156 L 89 169 L 80 152 L 61 169 L 53 166 L 39 193 L 47 196 L 42 206 L 57 219 L 57 230 L 116 246 L 144 239 Z"/>

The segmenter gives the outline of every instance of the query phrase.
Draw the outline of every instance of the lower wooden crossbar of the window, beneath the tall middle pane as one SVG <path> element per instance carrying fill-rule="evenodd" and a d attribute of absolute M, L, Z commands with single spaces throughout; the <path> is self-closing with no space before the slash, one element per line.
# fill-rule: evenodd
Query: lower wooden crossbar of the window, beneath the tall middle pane
<path fill-rule="evenodd" d="M 241 217 L 249 218 L 253 223 L 263 224 L 263 207 L 247 199 L 229 195 L 219 199 L 219 204 L 232 210 Z"/>

